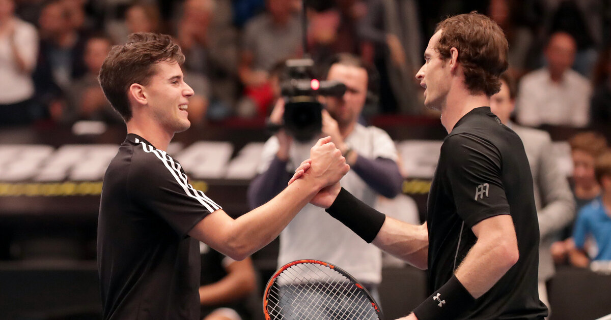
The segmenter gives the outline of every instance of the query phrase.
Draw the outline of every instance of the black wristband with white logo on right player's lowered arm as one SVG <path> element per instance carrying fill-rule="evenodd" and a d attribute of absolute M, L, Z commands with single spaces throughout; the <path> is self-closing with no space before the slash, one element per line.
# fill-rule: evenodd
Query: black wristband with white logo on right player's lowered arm
<path fill-rule="evenodd" d="M 414 315 L 418 320 L 456 319 L 474 303 L 475 298 L 452 276 L 414 309 Z"/>

